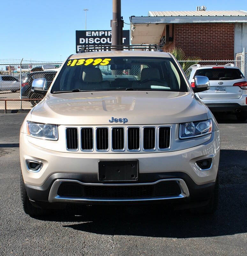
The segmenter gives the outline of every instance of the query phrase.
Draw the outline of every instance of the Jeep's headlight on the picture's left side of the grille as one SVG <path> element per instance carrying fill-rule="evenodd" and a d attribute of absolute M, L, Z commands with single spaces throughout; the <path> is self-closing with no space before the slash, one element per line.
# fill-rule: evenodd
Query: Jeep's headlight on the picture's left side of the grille
<path fill-rule="evenodd" d="M 43 140 L 57 140 L 58 132 L 56 124 L 38 124 L 27 122 L 27 134 Z"/>

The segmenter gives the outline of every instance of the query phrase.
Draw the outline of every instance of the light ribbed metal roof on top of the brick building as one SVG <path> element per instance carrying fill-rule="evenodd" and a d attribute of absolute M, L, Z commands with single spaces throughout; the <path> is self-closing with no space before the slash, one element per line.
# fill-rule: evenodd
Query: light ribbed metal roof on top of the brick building
<path fill-rule="evenodd" d="M 247 16 L 247 11 L 149 11 L 148 16 Z"/>

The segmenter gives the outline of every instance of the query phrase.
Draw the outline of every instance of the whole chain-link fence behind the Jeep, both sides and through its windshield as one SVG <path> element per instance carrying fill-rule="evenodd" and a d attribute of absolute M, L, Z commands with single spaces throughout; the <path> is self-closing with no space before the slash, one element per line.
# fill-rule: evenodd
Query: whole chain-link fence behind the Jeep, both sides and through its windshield
<path fill-rule="evenodd" d="M 245 59 L 243 58 L 245 56 Z M 242 73 L 247 72 L 247 54 L 238 53 L 235 60 L 200 60 L 200 65 L 230 65 L 238 67 Z M 17 63 L 19 62 L 19 63 Z M 59 71 L 61 62 L 36 62 L 12 60 L 11 63 L 0 60 L 0 111 L 4 109 L 31 109 L 43 97 L 39 93 L 31 91 L 32 82 L 36 78 L 46 78 L 48 87 L 52 83 L 56 73 Z M 195 61 L 180 60 L 183 66 L 190 67 Z M 110 70 L 110 66 L 101 66 L 104 75 L 128 75 L 131 80 L 140 80 L 140 73 L 145 65 L 132 65 L 130 69 Z M 184 70 L 186 71 L 186 70 Z M 247 73 L 245 73 L 247 74 Z M 127 76 L 126 76 L 127 78 Z M 116 81 L 116 79 L 115 79 Z M 7 101 L 6 101 L 7 100 Z"/>

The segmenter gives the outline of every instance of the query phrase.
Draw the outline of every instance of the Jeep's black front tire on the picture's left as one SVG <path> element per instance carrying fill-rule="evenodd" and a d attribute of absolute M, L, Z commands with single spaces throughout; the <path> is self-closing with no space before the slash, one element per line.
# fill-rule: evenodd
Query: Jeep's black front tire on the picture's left
<path fill-rule="evenodd" d="M 37 215 L 45 214 L 45 209 L 35 207 L 30 203 L 29 197 L 26 194 L 26 188 L 24 185 L 22 173 L 20 176 L 20 195 L 21 195 L 22 206 L 23 206 L 24 212 L 26 214 L 28 214 L 30 216 L 37 216 Z"/>

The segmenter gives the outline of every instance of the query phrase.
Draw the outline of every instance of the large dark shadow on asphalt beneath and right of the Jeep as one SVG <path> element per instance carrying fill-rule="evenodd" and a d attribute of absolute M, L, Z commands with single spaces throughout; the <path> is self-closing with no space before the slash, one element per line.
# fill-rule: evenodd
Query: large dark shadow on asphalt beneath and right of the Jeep
<path fill-rule="evenodd" d="M 57 212 L 45 220 L 81 222 L 63 227 L 103 235 L 189 238 L 245 233 L 247 151 L 221 150 L 219 175 L 220 201 L 213 215 L 174 212 L 165 205 L 82 206 L 78 215 Z"/>

